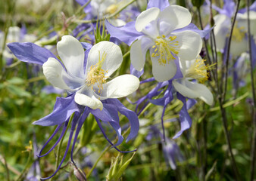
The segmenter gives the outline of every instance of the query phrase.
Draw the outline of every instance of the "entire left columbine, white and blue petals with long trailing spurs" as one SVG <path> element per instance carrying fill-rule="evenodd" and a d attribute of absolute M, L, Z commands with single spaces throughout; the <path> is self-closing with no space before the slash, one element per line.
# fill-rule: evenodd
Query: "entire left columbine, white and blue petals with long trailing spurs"
<path fill-rule="evenodd" d="M 139 120 L 136 113 L 126 109 L 119 100 L 115 99 L 126 97 L 137 90 L 139 87 L 139 78 L 133 75 L 120 75 L 108 81 L 111 74 L 122 63 L 123 56 L 120 48 L 109 41 L 101 41 L 94 46 L 89 46 L 88 44 L 83 45 L 87 46 L 88 49 L 85 52 L 83 51 L 82 44 L 76 38 L 70 35 L 62 37 L 61 41 L 57 44 L 61 62 L 50 51 L 40 48 L 36 44 L 8 44 L 8 47 L 19 60 L 42 65 L 43 73 L 47 80 L 55 87 L 67 90 L 69 94 L 67 97 L 57 97 L 53 112 L 41 118 L 39 121 L 34 122 L 34 124 L 42 126 L 58 125 L 52 136 L 42 146 L 39 157 L 52 152 L 62 137 L 64 137 L 68 125 L 71 124 L 67 148 L 55 173 L 57 173 L 63 164 L 72 139 L 73 146 L 70 157 L 71 161 L 73 161 L 73 149 L 83 122 L 86 121 L 89 113 L 94 115 L 98 127 L 109 143 L 111 143 L 111 140 L 106 136 L 100 120 L 109 123 L 114 128 L 118 141 L 115 145 L 113 143 L 111 145 L 115 149 L 123 141 L 118 112 L 125 115 L 130 121 L 131 131 L 126 142 L 136 137 L 139 130 Z M 45 146 L 55 137 L 61 127 L 61 136 L 54 146 L 48 152 L 42 154 Z M 75 133 L 74 138 L 73 133 Z M 117 150 L 120 151 L 119 149 Z M 49 179 L 52 176 L 44 179 Z"/>

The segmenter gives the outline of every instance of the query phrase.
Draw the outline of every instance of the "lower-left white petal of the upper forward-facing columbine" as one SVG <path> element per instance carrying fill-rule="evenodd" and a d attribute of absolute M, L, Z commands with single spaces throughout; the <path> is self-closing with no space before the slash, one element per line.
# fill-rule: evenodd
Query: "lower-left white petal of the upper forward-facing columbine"
<path fill-rule="evenodd" d="M 146 37 L 142 37 L 131 45 L 130 60 L 136 70 L 142 71 L 145 65 L 145 54 L 152 45 L 153 41 Z"/>

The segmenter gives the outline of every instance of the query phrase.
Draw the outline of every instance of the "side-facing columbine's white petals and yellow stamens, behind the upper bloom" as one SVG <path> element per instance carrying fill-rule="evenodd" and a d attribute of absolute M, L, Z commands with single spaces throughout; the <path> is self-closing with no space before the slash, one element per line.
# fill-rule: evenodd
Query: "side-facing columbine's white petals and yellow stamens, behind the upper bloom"
<path fill-rule="evenodd" d="M 214 97 L 211 91 L 204 84 L 196 82 L 204 83 L 204 81 L 207 81 L 209 77 L 208 69 L 211 69 L 212 66 L 206 66 L 200 56 L 195 60 L 180 61 L 180 64 L 183 78 L 173 80 L 176 91 L 184 97 L 192 99 L 198 97 L 208 105 L 212 105 Z"/>

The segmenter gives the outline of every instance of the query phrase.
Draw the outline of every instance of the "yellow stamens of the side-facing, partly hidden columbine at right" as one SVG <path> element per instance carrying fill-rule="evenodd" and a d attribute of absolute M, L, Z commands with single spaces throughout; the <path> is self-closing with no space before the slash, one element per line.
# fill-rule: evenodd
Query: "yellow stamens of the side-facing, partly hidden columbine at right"
<path fill-rule="evenodd" d="M 204 62 L 203 59 L 195 60 L 195 63 L 186 70 L 186 78 L 194 78 L 202 84 L 207 81 L 210 76 L 208 70 L 214 69 L 215 64 L 205 65 Z"/>

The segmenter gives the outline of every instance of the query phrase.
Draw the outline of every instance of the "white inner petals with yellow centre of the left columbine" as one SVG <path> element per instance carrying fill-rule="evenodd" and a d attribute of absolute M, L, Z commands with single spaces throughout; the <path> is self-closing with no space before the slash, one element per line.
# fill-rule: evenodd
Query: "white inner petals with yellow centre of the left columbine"
<path fill-rule="evenodd" d="M 89 51 L 86 66 L 83 47 L 76 38 L 63 36 L 57 50 L 64 66 L 55 58 L 49 58 L 42 65 L 44 75 L 53 86 L 76 92 L 75 102 L 82 106 L 103 109 L 101 100 L 126 97 L 139 87 L 139 79 L 133 75 L 120 75 L 107 82 L 123 60 L 120 48 L 114 43 L 95 44 Z"/>

